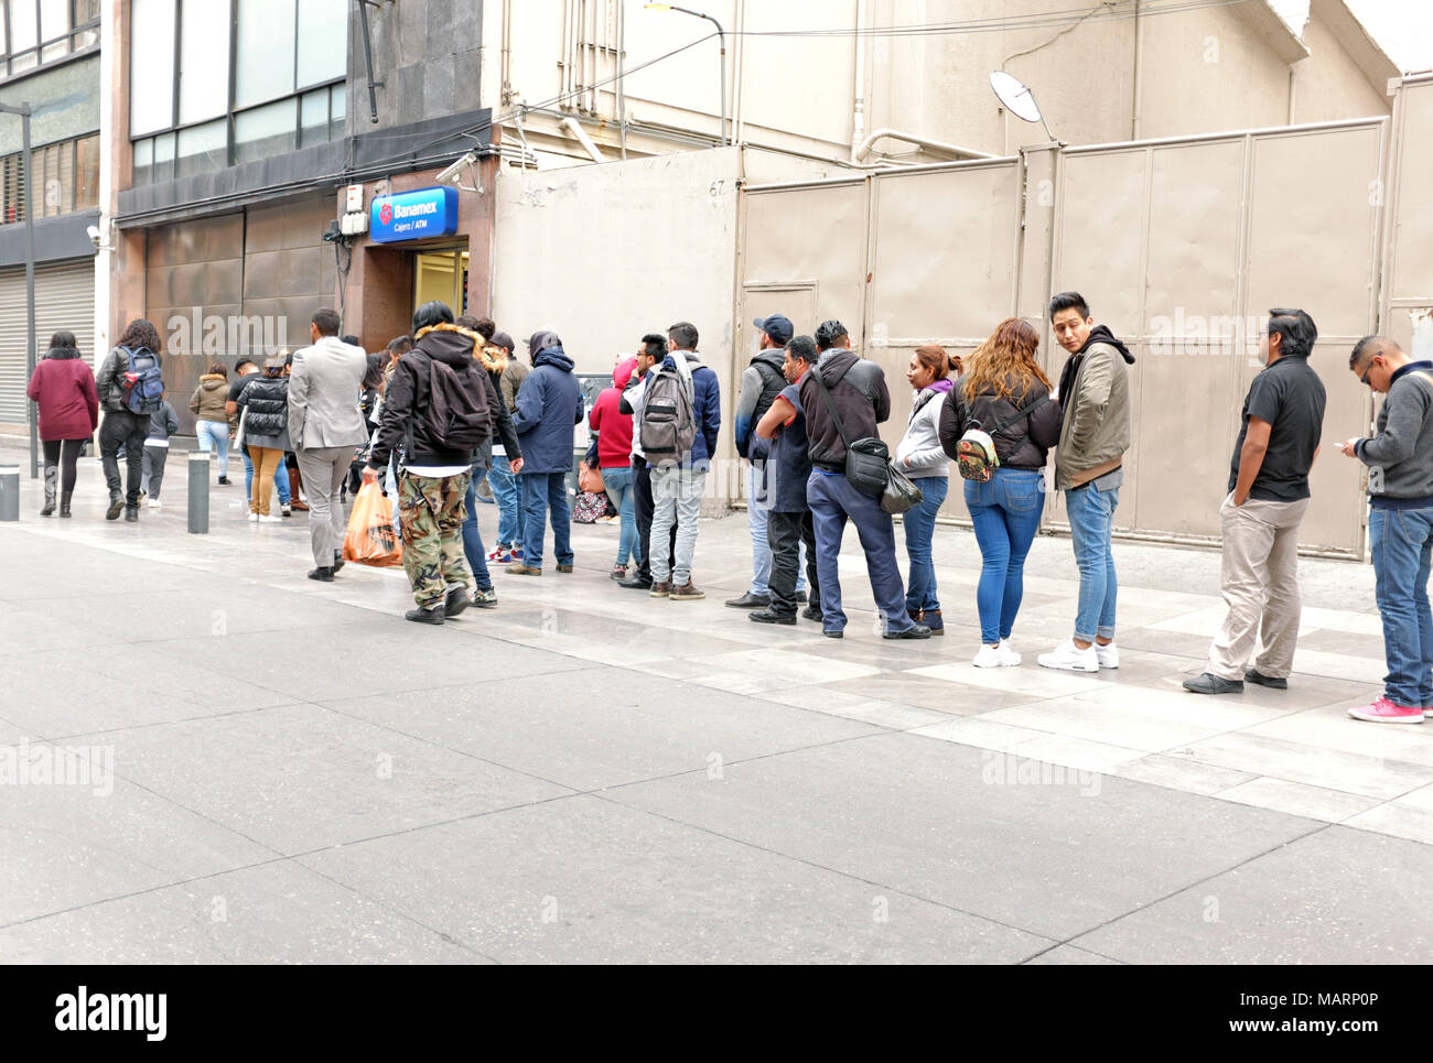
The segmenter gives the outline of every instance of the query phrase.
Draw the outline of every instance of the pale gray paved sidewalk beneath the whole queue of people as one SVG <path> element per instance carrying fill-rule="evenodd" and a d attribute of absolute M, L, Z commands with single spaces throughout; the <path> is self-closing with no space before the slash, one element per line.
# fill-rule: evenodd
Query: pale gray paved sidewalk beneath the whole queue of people
<path fill-rule="evenodd" d="M 702 521 L 704 602 L 616 587 L 618 529 L 579 526 L 575 574 L 494 573 L 499 607 L 440 632 L 401 572 L 307 580 L 305 519 L 246 523 L 242 463 L 186 534 L 173 464 L 138 524 L 89 460 L 73 520 L 26 481 L 0 526 L 9 958 L 1433 958 L 1433 728 L 1344 715 L 1384 670 L 1366 566 L 1301 563 L 1290 691 L 1199 698 L 1212 552 L 1116 546 L 1098 676 L 1033 662 L 1073 619 L 1062 539 L 1026 665 L 972 668 L 979 552 L 946 527 L 924 643 L 878 638 L 854 534 L 844 640 L 725 609 L 741 516 Z M 14 776 L 62 746 L 109 785 Z"/>

